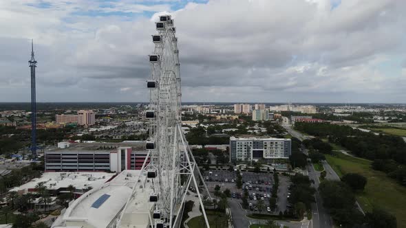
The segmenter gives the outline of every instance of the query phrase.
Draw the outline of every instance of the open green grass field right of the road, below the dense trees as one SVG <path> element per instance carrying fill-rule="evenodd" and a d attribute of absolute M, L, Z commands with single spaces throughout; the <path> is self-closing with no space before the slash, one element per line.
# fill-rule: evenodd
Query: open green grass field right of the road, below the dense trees
<path fill-rule="evenodd" d="M 372 170 L 371 161 L 358 159 L 334 152 L 334 156 L 325 155 L 328 163 L 339 176 L 348 172 L 359 173 L 367 178 L 365 192 L 356 198 L 364 211 L 372 207 L 381 207 L 396 216 L 398 227 L 406 227 L 406 187 L 389 179 L 385 172 Z"/>

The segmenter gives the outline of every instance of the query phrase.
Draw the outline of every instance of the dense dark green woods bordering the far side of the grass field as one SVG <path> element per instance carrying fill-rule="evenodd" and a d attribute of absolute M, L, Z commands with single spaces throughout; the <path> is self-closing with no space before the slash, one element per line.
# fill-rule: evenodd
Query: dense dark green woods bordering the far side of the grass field
<path fill-rule="evenodd" d="M 328 123 L 297 123 L 295 128 L 317 137 L 326 137 L 328 141 L 339 144 L 357 157 L 372 160 L 372 168 L 386 172 L 389 177 L 406 185 L 406 142 L 401 137 L 392 135 L 375 135 L 350 126 Z M 320 144 L 320 139 L 312 139 L 321 146 L 320 152 L 328 153 L 329 148 Z"/>

